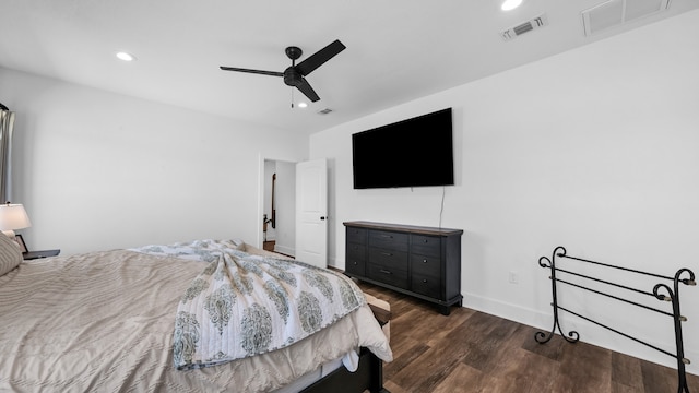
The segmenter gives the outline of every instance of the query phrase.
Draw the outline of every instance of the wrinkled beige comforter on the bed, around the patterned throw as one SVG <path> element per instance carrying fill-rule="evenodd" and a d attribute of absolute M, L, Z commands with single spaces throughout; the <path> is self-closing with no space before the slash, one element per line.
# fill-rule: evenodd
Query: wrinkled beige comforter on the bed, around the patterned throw
<path fill-rule="evenodd" d="M 130 250 L 20 263 L 0 276 L 0 391 L 266 392 L 359 346 L 392 358 L 363 305 L 281 349 L 179 371 L 176 310 L 204 269 Z"/>

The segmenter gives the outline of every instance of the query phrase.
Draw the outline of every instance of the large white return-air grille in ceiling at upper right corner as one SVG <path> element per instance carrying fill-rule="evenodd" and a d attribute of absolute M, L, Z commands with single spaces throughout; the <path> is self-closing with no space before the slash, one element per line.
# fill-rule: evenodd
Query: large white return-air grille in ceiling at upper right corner
<path fill-rule="evenodd" d="M 585 36 L 670 8 L 670 0 L 608 0 L 582 11 Z"/>

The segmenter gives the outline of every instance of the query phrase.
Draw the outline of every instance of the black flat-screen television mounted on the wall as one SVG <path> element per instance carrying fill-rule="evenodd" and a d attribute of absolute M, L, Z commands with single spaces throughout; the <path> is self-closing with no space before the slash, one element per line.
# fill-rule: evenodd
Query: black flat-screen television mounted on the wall
<path fill-rule="evenodd" d="M 453 186 L 451 108 L 352 135 L 355 189 Z"/>

